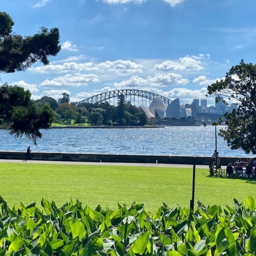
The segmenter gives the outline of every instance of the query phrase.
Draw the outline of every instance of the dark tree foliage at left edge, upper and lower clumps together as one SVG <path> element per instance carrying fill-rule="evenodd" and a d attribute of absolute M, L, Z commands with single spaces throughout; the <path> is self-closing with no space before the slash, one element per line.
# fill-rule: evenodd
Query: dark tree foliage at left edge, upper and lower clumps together
<path fill-rule="evenodd" d="M 33 36 L 12 33 L 14 22 L 9 14 L 0 12 L 0 73 L 25 71 L 38 60 L 49 64 L 48 56 L 56 56 L 60 51 L 59 30 L 42 27 Z M 0 87 L 0 125 L 11 135 L 32 139 L 36 144 L 41 138 L 40 129 L 48 129 L 54 112 L 49 105 L 41 108 L 31 100 L 31 93 L 23 88 Z"/>

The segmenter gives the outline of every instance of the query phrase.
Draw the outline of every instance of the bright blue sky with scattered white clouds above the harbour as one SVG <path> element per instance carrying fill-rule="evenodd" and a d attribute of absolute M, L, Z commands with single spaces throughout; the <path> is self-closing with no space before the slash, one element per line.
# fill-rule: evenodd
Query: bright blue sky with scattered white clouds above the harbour
<path fill-rule="evenodd" d="M 207 99 L 207 86 L 232 66 L 255 63 L 255 0 L 1 0 L 23 36 L 57 27 L 50 65 L 0 74 L 33 99 L 71 101 L 137 89 L 181 103 Z"/>

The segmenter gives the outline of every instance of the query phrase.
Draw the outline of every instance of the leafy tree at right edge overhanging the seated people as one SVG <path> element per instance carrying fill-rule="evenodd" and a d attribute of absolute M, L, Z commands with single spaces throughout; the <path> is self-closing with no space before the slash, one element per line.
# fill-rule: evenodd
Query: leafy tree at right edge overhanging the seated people
<path fill-rule="evenodd" d="M 241 148 L 246 154 L 256 154 L 256 65 L 240 64 L 226 73 L 225 79 L 212 83 L 207 88 L 209 95 L 239 102 L 238 109 L 224 114 L 226 129 L 220 136 L 232 150 Z"/>

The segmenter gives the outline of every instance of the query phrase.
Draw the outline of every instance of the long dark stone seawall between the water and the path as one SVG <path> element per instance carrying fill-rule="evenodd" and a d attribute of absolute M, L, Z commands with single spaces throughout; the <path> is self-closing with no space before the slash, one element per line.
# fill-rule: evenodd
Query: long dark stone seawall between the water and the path
<path fill-rule="evenodd" d="M 31 152 L 33 160 L 73 161 L 73 162 L 110 162 L 110 163 L 165 163 L 165 164 L 193 164 L 194 156 L 161 156 L 161 155 L 121 155 L 121 154 L 80 154 L 80 153 L 53 153 Z M 26 152 L 0 151 L 0 159 L 24 160 Z M 195 156 L 196 164 L 208 165 L 209 156 Z M 247 158 L 241 158 L 247 162 Z M 237 158 L 221 157 L 221 165 L 233 163 Z"/>

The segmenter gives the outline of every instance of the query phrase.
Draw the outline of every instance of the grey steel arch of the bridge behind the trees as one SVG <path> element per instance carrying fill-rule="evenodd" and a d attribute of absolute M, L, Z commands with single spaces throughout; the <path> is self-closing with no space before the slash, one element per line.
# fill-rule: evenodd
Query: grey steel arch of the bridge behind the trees
<path fill-rule="evenodd" d="M 111 92 L 104 92 L 104 93 L 100 93 L 97 95 L 94 95 L 92 97 L 89 97 L 87 99 L 83 99 L 79 102 L 77 102 L 76 104 L 79 106 L 81 103 L 100 103 L 100 102 L 105 102 L 107 100 L 113 99 L 113 101 L 115 100 L 115 98 L 117 98 L 119 95 L 125 95 L 126 101 L 131 101 L 131 97 L 133 96 L 133 100 L 134 100 L 134 105 L 135 104 L 135 98 L 136 98 L 136 103 L 139 103 L 139 99 L 148 99 L 150 102 L 157 96 L 160 96 L 163 100 L 163 102 L 168 106 L 170 104 L 170 102 L 172 102 L 172 100 L 159 95 L 157 93 L 152 93 L 152 92 L 148 92 L 148 91 L 142 91 L 142 90 L 135 90 L 135 89 L 126 89 L 126 90 L 115 90 L 115 91 L 111 91 Z M 130 96 L 130 100 L 129 97 Z M 114 101 L 115 102 L 115 101 Z M 116 101 L 117 102 L 117 101 Z M 139 104 L 138 104 L 139 105 Z"/>

